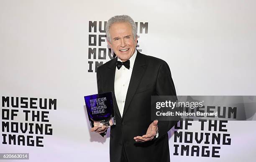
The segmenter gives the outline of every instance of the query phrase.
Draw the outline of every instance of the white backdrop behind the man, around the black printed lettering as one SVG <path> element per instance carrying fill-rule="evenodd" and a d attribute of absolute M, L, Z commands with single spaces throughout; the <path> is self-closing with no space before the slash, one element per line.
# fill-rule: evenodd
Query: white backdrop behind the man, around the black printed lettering
<path fill-rule="evenodd" d="M 90 133 L 83 96 L 97 93 L 88 49 L 107 48 L 98 41 L 89 46 L 90 34 L 104 34 L 89 32 L 89 21 L 99 24 L 113 15 L 148 23 L 148 33 L 138 33 L 139 49 L 169 64 L 177 95 L 256 95 L 255 5 L 254 0 L 0 0 L 0 105 L 2 96 L 57 100 L 57 109 L 49 110 L 53 135 L 44 135 L 44 147 L 3 144 L 1 136 L 0 153 L 29 153 L 31 162 L 109 161 L 109 132 L 105 138 Z M 231 145 L 221 146 L 219 158 L 175 156 L 171 137 L 171 161 L 253 162 L 255 124 L 228 122 Z M 200 131 L 197 125 L 190 131 Z"/>

